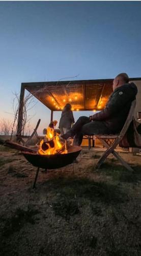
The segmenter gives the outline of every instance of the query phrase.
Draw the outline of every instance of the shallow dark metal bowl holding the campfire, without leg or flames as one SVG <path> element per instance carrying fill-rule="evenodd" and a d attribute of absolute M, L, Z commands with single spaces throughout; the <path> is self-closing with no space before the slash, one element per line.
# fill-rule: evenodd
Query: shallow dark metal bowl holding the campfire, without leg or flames
<path fill-rule="evenodd" d="M 22 152 L 23 156 L 36 167 L 44 169 L 57 169 L 71 164 L 81 152 L 80 146 L 69 146 L 68 154 L 39 155 Z"/>

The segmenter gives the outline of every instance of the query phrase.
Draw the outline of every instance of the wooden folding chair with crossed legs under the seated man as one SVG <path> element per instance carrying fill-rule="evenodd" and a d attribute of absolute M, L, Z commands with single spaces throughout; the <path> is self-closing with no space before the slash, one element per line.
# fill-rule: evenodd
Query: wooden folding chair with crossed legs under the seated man
<path fill-rule="evenodd" d="M 98 169 L 101 164 L 105 161 L 105 159 L 108 157 L 108 155 L 111 153 L 112 155 L 114 155 L 128 170 L 133 171 L 133 169 L 129 166 L 128 163 L 126 163 L 121 156 L 119 156 L 119 154 L 117 152 L 115 152 L 115 148 L 117 147 L 117 145 L 119 144 L 119 142 L 122 140 L 123 136 L 125 135 L 125 133 L 127 132 L 127 129 L 132 121 L 133 118 L 133 114 L 134 114 L 134 110 L 135 110 L 135 105 L 136 105 L 136 100 L 132 101 L 131 104 L 131 108 L 129 111 L 129 114 L 127 116 L 126 122 L 123 126 L 122 131 L 120 132 L 120 134 L 110 134 L 110 135 L 103 135 L 103 134 L 99 134 L 99 135 L 95 135 L 95 137 L 97 139 L 99 139 L 103 145 L 107 148 L 107 150 L 104 152 L 104 154 L 100 157 L 96 168 Z"/>

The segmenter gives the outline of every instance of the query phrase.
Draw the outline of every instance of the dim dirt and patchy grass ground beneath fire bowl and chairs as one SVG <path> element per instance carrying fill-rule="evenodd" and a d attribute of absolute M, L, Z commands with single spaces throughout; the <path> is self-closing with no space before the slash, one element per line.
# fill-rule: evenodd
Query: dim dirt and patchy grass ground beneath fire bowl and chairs
<path fill-rule="evenodd" d="M 101 152 L 78 163 L 42 170 L 0 147 L 0 254 L 10 256 L 141 255 L 141 157 L 120 153 L 134 172 Z"/>

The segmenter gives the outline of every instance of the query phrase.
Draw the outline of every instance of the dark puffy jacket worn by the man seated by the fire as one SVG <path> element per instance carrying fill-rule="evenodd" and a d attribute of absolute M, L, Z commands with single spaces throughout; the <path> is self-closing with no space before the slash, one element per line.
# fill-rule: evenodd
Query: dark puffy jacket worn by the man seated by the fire
<path fill-rule="evenodd" d="M 128 116 L 137 87 L 133 82 L 117 88 L 109 97 L 105 109 L 92 116 L 92 120 L 104 121 L 111 133 L 119 133 Z"/>

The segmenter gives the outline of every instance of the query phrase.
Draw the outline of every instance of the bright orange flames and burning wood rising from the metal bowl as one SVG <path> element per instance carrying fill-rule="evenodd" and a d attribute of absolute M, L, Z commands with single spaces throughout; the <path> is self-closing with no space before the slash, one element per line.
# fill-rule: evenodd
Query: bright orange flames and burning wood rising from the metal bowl
<path fill-rule="evenodd" d="M 48 127 L 45 138 L 41 140 L 38 153 L 40 155 L 67 154 L 66 144 L 60 141 L 59 134 Z"/>

